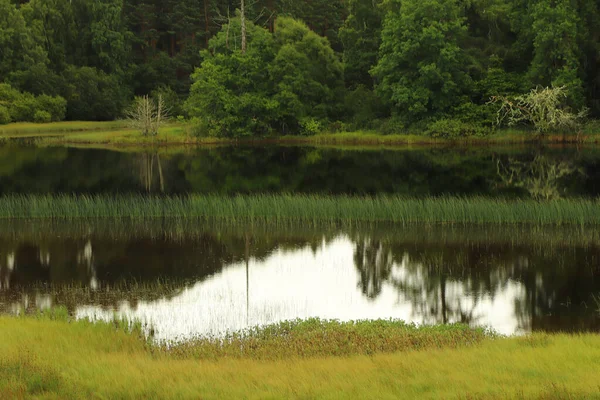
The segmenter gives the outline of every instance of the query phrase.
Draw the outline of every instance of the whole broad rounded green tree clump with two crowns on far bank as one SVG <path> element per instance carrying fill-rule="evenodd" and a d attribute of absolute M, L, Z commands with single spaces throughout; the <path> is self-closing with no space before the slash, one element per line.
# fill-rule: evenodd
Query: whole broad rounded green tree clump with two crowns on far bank
<path fill-rule="evenodd" d="M 298 133 L 335 115 L 342 67 L 327 39 L 284 17 L 274 34 L 252 23 L 247 29 L 245 52 L 239 19 L 203 52 L 187 101 L 200 129 L 229 137 Z"/>

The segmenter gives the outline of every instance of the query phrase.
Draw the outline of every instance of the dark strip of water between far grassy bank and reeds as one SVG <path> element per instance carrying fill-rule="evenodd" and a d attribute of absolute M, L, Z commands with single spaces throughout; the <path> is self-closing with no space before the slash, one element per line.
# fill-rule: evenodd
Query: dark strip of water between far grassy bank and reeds
<path fill-rule="evenodd" d="M 221 147 L 127 153 L 0 147 L 7 193 L 598 196 L 593 149 Z"/>

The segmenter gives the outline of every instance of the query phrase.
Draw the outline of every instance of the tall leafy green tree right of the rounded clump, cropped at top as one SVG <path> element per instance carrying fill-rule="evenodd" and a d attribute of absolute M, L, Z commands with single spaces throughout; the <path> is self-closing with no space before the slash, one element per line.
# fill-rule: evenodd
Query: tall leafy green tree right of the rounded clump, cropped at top
<path fill-rule="evenodd" d="M 460 47 L 467 34 L 455 0 L 392 0 L 373 76 L 377 92 L 405 122 L 449 112 L 471 90 Z"/>

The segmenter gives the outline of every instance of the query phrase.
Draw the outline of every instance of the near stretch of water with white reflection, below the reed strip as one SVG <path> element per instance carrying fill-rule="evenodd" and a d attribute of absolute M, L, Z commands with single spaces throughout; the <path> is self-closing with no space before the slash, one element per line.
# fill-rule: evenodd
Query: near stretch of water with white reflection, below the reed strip
<path fill-rule="evenodd" d="M 285 319 L 600 328 L 596 230 L 9 223 L 0 309 L 141 320 L 159 340 Z"/>

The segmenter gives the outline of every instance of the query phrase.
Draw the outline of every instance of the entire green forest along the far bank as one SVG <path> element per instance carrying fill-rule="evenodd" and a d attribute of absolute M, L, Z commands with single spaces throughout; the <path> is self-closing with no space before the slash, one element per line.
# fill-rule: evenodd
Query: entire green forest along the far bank
<path fill-rule="evenodd" d="M 597 1 L 0 0 L 0 124 L 148 95 L 195 136 L 485 136 L 543 88 L 600 117 Z"/>

